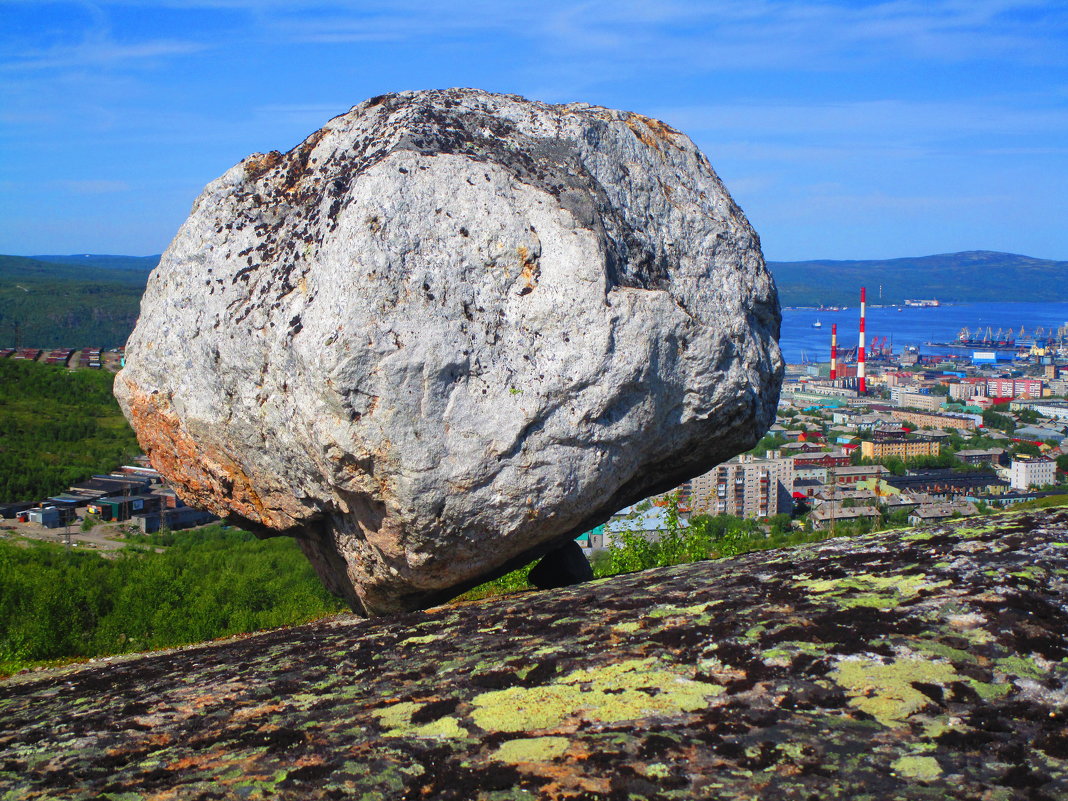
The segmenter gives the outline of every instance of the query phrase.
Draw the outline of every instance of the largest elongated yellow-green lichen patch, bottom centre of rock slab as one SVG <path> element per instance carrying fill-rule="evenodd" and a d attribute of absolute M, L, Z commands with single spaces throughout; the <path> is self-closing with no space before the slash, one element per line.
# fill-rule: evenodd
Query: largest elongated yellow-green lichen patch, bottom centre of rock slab
<path fill-rule="evenodd" d="M 723 692 L 659 665 L 632 659 L 576 671 L 541 687 L 509 687 L 475 696 L 471 717 L 487 732 L 554 728 L 569 718 L 601 723 L 673 716 L 704 708 Z"/>

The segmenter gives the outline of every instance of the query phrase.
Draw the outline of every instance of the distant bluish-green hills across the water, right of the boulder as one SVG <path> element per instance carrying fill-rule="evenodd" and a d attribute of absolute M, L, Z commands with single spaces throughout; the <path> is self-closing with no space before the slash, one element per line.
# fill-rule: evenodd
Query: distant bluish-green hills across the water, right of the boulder
<path fill-rule="evenodd" d="M 768 262 L 783 305 L 855 305 L 937 298 L 943 303 L 1068 301 L 1068 262 L 986 250 L 870 262 Z"/>

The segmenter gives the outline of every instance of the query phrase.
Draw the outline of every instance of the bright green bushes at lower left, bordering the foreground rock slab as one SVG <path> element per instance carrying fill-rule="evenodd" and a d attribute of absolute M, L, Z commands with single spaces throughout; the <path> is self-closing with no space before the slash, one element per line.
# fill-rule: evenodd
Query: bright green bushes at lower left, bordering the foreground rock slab
<path fill-rule="evenodd" d="M 157 552 L 166 541 L 172 545 Z M 146 538 L 112 559 L 0 540 L 0 675 L 53 660 L 286 626 L 341 610 L 288 537 L 261 540 L 211 525 Z"/>

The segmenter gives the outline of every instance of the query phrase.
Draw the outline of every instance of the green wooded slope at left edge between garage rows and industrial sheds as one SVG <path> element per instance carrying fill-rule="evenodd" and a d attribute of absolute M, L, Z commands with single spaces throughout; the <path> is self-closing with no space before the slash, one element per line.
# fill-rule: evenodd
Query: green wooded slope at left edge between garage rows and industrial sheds
<path fill-rule="evenodd" d="M 140 453 L 104 371 L 0 359 L 0 503 L 62 492 Z"/>

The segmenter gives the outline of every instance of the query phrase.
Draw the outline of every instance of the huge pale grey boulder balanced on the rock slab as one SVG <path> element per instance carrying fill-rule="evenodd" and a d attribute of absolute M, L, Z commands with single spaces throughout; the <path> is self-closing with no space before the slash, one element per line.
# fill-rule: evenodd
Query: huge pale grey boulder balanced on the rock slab
<path fill-rule="evenodd" d="M 751 447 L 780 312 L 705 156 L 624 111 L 372 98 L 207 186 L 115 394 L 189 503 L 428 606 Z"/>

